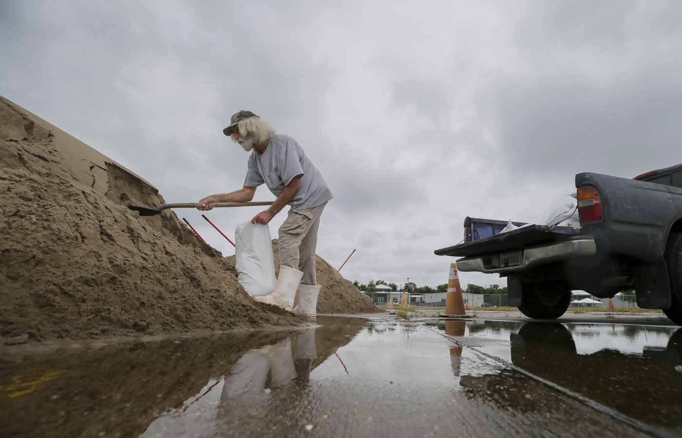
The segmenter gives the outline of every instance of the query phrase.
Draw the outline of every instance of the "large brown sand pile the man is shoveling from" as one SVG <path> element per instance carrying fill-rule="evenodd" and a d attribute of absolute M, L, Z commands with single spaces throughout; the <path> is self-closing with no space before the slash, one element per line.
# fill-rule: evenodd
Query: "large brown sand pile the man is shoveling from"
<path fill-rule="evenodd" d="M 0 341 L 297 325 L 255 303 L 151 184 L 0 97 Z M 275 246 L 276 247 L 276 246 Z M 318 312 L 376 312 L 317 259 Z"/>

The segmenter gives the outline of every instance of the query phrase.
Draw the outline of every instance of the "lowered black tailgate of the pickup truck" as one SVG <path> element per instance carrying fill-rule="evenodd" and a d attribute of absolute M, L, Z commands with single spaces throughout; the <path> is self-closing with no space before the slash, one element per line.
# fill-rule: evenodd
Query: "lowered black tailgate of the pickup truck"
<path fill-rule="evenodd" d="M 528 225 L 507 233 L 435 250 L 436 255 L 456 257 L 481 256 L 539 244 L 580 239 L 580 230 L 572 227 Z"/>

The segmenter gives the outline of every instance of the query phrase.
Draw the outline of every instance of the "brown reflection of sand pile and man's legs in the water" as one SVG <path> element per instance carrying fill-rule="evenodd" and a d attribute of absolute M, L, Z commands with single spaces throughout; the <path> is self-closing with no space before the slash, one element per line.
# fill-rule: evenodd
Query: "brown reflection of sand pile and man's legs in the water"
<path fill-rule="evenodd" d="M 276 388 L 289 377 L 305 383 L 310 370 L 351 342 L 366 320 L 318 317 L 318 323 L 325 327 L 117 345 L 74 342 L 56 351 L 3 349 L 0 435 L 128 437 L 144 433 L 155 419 L 182 417 L 190 421 L 176 422 L 177 430 L 164 436 L 181 435 L 192 418 L 220 402 L 223 389 L 230 398 L 259 386 L 263 392 L 263 384 Z M 254 360 L 259 354 L 265 360 Z M 254 367 L 267 371 L 267 381 Z M 190 436 L 205 428 L 187 427 Z"/>

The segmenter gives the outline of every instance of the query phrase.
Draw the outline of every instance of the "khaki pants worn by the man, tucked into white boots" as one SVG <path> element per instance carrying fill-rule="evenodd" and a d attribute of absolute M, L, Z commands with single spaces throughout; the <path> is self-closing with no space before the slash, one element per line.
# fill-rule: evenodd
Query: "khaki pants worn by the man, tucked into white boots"
<path fill-rule="evenodd" d="M 317 284 L 315 277 L 315 250 L 320 216 L 327 203 L 313 208 L 293 210 L 279 230 L 280 265 L 303 272 L 301 283 Z"/>

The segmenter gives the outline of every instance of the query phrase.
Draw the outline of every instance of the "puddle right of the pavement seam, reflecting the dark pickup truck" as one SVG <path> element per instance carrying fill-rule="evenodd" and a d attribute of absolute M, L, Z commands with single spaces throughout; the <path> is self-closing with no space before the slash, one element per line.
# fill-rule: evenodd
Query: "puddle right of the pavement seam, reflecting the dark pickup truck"
<path fill-rule="evenodd" d="M 458 333 L 448 324 L 457 324 Z M 441 321 L 436 327 L 629 418 L 682 433 L 679 327 L 536 321 Z"/>

